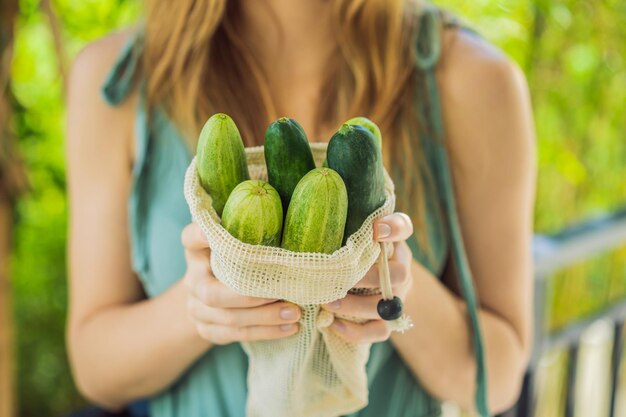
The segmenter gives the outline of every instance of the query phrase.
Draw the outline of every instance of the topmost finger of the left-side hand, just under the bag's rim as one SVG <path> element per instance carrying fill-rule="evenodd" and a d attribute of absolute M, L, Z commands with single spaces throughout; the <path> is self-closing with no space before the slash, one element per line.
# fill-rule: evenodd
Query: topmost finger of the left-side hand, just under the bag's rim
<path fill-rule="evenodd" d="M 192 278 L 190 292 L 201 303 L 218 308 L 258 307 L 275 302 L 271 298 L 248 297 L 236 293 L 211 275 Z"/>

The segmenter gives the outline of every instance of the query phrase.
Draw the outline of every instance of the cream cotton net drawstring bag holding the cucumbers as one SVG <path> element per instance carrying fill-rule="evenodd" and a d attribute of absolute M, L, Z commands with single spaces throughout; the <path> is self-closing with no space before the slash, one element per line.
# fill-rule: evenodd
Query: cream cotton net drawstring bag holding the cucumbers
<path fill-rule="evenodd" d="M 312 144 L 319 166 L 326 144 Z M 263 147 L 247 148 L 252 179 L 267 181 Z M 248 416 L 333 417 L 367 405 L 365 364 L 371 345 L 352 344 L 328 327 L 334 315 L 320 304 L 343 298 L 380 259 L 388 274 L 386 248 L 373 240 L 375 219 L 393 213 L 394 185 L 385 173 L 387 199 L 361 228 L 333 254 L 298 253 L 282 248 L 243 243 L 220 225 L 211 197 L 200 185 L 195 158 L 185 175 L 185 198 L 193 220 L 211 247 L 211 268 L 234 291 L 253 297 L 287 300 L 302 308 L 300 330 L 271 341 L 242 343 L 249 356 Z M 381 250 L 382 248 L 382 250 Z M 388 275 L 382 285 L 391 298 Z M 359 292 L 360 294 L 363 291 Z M 404 330 L 403 317 L 390 326 Z"/>

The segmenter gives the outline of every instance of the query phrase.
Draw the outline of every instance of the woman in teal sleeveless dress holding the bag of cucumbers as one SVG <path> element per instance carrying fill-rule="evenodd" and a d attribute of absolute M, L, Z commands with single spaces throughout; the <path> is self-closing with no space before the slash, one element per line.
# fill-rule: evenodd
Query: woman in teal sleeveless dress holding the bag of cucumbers
<path fill-rule="evenodd" d="M 150 398 L 156 417 L 243 416 L 247 362 L 237 342 L 298 331 L 297 306 L 220 284 L 206 240 L 187 225 L 182 177 L 193 139 L 221 111 L 248 146 L 283 115 L 311 141 L 355 115 L 383 130 L 409 216 L 379 220 L 375 238 L 395 243 L 394 293 L 414 327 L 390 335 L 376 297 L 324 306 L 369 320 L 335 320 L 342 337 L 380 342 L 369 405 L 355 415 L 434 416 L 441 399 L 473 409 L 484 377 L 483 413 L 514 403 L 531 345 L 528 94 L 500 52 L 420 10 L 429 9 L 408 0 L 150 0 L 145 28 L 79 55 L 68 110 L 68 346 L 87 398 L 109 409 Z M 438 153 L 444 131 L 454 195 Z M 468 276 L 457 213 L 477 314 L 457 283 Z M 377 279 L 372 270 L 359 286 Z M 468 317 L 479 317 L 482 339 Z"/>

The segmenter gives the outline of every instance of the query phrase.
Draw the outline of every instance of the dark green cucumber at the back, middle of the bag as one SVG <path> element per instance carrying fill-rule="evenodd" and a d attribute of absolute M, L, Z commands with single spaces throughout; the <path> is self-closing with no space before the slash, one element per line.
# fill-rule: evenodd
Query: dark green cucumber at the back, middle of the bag
<path fill-rule="evenodd" d="M 276 120 L 265 132 L 264 153 L 269 183 L 280 194 L 283 210 L 287 211 L 298 181 L 315 168 L 302 126 L 286 117 Z"/>

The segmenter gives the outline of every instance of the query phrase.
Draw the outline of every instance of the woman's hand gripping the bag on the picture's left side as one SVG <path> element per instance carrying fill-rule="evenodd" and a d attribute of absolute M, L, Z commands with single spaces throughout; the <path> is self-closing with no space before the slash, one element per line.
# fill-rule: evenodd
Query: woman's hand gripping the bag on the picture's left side
<path fill-rule="evenodd" d="M 183 229 L 187 259 L 187 308 L 200 336 L 211 343 L 280 339 L 298 331 L 300 308 L 285 301 L 247 297 L 222 284 L 211 271 L 211 250 L 200 227 Z"/>

